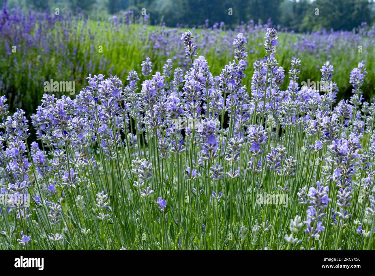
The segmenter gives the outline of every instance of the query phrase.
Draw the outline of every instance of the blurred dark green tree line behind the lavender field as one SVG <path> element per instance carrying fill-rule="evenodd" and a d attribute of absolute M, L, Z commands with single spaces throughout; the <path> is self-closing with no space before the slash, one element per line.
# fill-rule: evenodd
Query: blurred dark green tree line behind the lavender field
<path fill-rule="evenodd" d="M 7 0 L 8 6 L 40 10 L 55 8 L 81 10 L 95 20 L 118 14 L 120 10 L 142 9 L 150 15 L 151 24 L 166 26 L 199 26 L 208 19 L 210 26 L 223 21 L 235 27 L 242 22 L 269 18 L 275 25 L 296 32 L 321 28 L 352 30 L 362 22 L 375 19 L 375 0 Z M 0 0 L 0 3 L 4 0 Z"/>

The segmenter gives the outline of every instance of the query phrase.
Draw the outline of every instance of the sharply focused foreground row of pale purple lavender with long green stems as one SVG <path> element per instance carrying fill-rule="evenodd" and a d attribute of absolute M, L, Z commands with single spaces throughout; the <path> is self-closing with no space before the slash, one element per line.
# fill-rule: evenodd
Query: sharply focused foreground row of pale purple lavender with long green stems
<path fill-rule="evenodd" d="M 124 82 L 90 75 L 74 100 L 45 94 L 30 147 L 23 110 L 8 116 L 2 96 L 0 248 L 375 249 L 365 65 L 350 100 L 336 103 L 329 61 L 329 92 L 299 85 L 299 59 L 281 90 L 277 39 L 267 29 L 247 87 L 243 33 L 217 76 L 183 33 L 186 71 L 147 58 Z"/>

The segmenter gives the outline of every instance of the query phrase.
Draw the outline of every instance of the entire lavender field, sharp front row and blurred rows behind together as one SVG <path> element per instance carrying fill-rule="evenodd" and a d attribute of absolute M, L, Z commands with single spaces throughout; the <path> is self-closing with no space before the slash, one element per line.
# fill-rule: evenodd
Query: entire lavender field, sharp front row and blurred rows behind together
<path fill-rule="evenodd" d="M 4 6 L 0 249 L 374 250 L 374 42 Z"/>

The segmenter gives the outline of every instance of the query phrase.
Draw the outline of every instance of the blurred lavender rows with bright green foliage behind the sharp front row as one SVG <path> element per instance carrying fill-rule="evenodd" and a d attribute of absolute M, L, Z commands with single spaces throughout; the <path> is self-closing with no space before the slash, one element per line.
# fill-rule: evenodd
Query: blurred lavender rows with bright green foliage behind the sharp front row
<path fill-rule="evenodd" d="M 12 111 L 21 107 L 30 115 L 44 93 L 45 81 L 51 79 L 75 82 L 78 91 L 90 72 L 116 74 L 124 79 L 130 70 L 141 69 L 145 56 L 153 60 L 154 68 L 159 71 L 169 58 L 174 65 L 189 68 L 190 64 L 184 60 L 181 30 L 162 24 L 147 26 L 149 21 L 147 15 L 138 17 L 131 11 L 121 12 L 108 22 L 95 22 L 84 19 L 82 14 L 63 10 L 58 14 L 55 11 L 8 11 L 5 4 L 0 14 L 0 93 L 7 96 Z M 223 22 L 211 24 L 206 21 L 192 33 L 200 53 L 212 63 L 213 74 L 220 74 L 233 56 L 232 40 L 240 32 L 252 41 L 248 46 L 249 58 L 264 62 L 259 45 L 271 22 L 250 21 L 234 31 L 227 30 Z M 348 75 L 357 60 L 365 60 L 370 72 L 375 68 L 372 61 L 375 60 L 372 53 L 375 26 L 363 25 L 354 33 L 319 31 L 305 35 L 287 32 L 280 26 L 276 29 L 280 36 L 281 66 L 287 68 L 294 57 L 314 60 L 306 64 L 301 74 L 304 81 L 317 81 L 320 65 L 331 60 L 333 64 L 340 64 L 336 67 L 336 80 L 341 93 L 345 94 L 350 92 Z M 251 70 L 246 73 L 251 74 Z M 373 75 L 364 83 L 366 97 L 371 96 L 372 91 L 368 91 L 375 83 Z M 248 86 L 251 84 L 250 79 L 244 81 Z M 72 91 L 56 89 L 55 95 L 60 97 L 68 92 Z"/>

